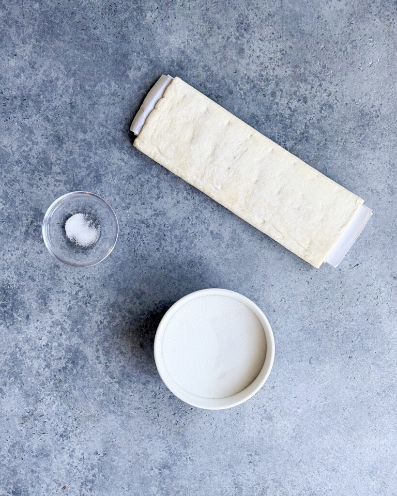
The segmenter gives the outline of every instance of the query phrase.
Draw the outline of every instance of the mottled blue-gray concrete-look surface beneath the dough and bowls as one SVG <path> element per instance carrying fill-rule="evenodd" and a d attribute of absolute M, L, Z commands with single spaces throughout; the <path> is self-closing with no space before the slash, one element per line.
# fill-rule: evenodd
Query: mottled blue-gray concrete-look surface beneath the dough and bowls
<path fill-rule="evenodd" d="M 387 1 L 1 1 L 0 495 L 396 494 L 396 8 Z M 374 209 L 312 268 L 133 148 L 179 75 Z M 41 237 L 76 189 L 119 219 L 76 270 Z M 191 291 L 252 298 L 276 339 L 263 389 L 190 408 L 153 361 Z"/>

